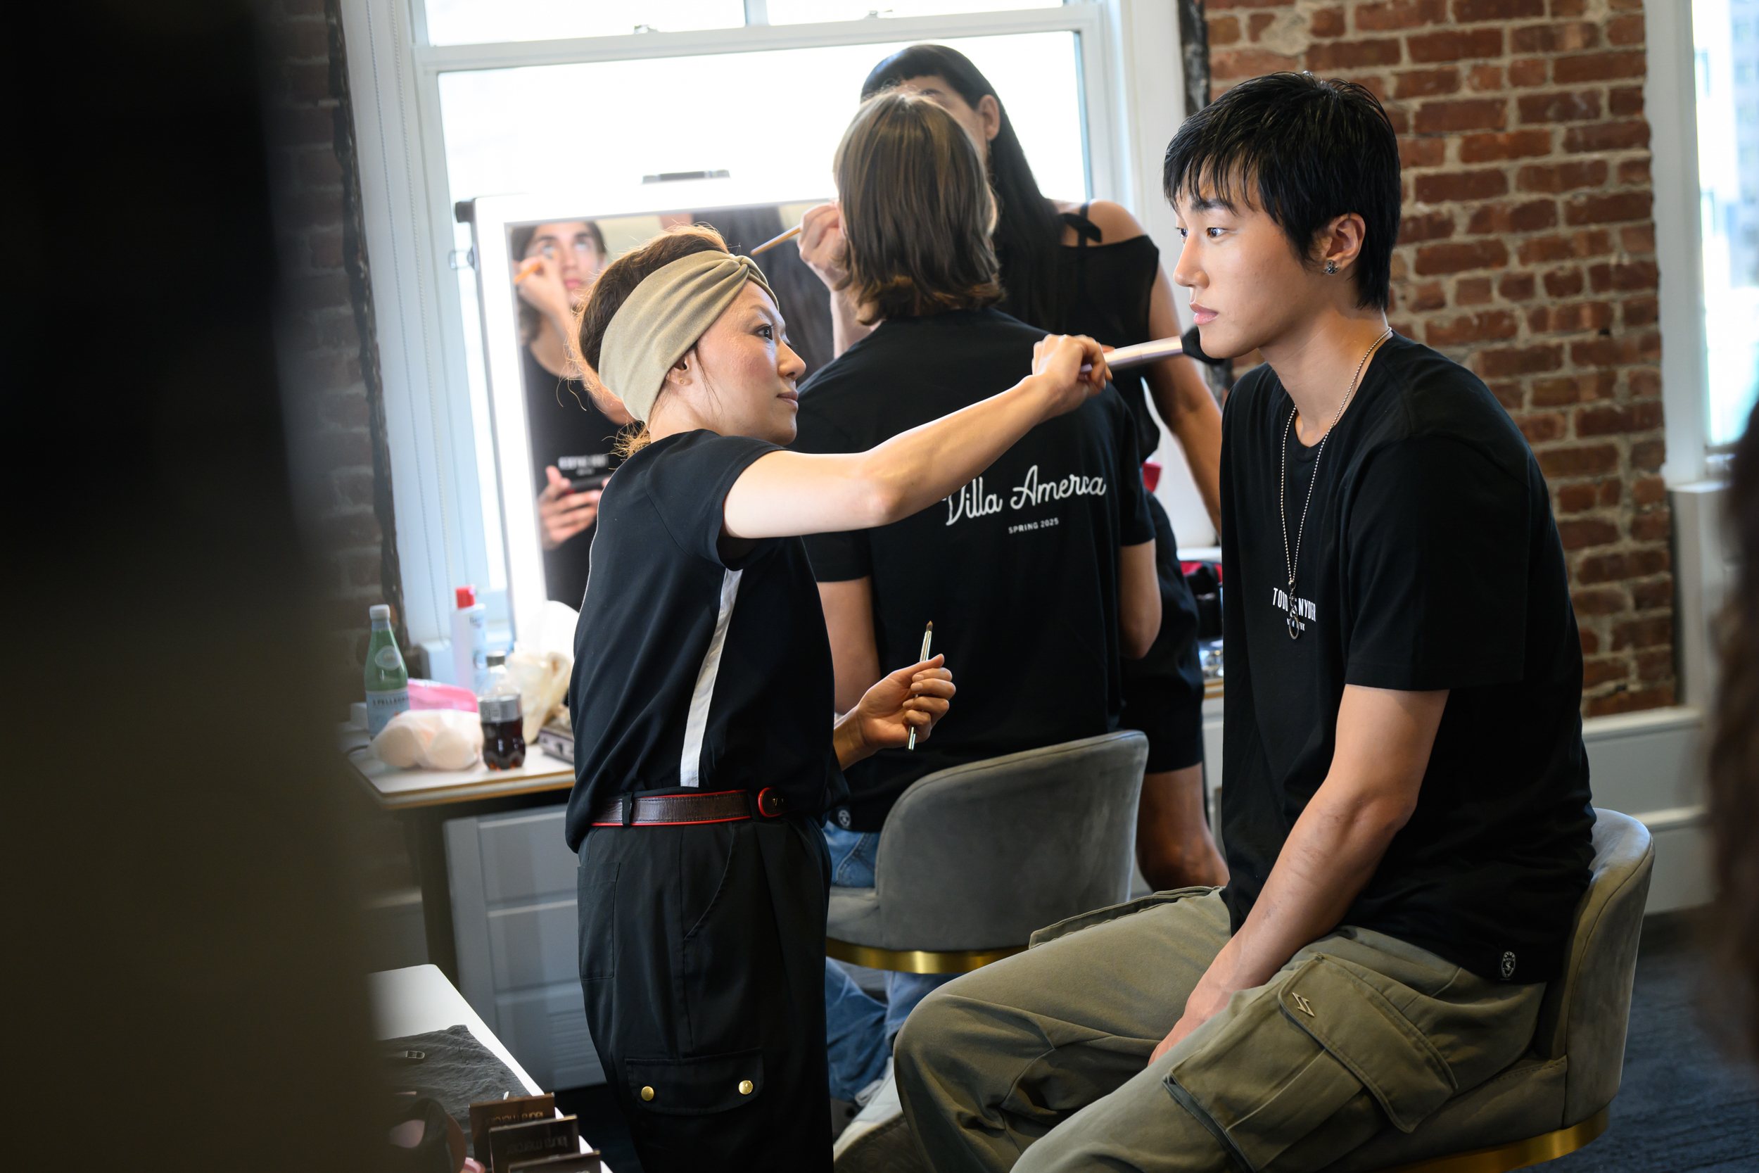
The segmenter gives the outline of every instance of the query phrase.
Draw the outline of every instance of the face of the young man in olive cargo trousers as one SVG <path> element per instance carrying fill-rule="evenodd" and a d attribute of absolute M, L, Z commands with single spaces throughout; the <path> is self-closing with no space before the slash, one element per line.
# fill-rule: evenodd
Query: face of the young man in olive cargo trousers
<path fill-rule="evenodd" d="M 1205 352 L 1219 359 L 1249 353 L 1312 313 L 1316 274 L 1268 213 L 1189 195 L 1173 211 L 1184 237 L 1173 281 L 1191 290 Z"/>

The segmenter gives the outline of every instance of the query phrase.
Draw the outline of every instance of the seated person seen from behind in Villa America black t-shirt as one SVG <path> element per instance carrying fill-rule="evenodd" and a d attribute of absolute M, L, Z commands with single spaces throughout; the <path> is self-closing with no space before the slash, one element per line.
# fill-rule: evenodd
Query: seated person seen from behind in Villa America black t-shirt
<path fill-rule="evenodd" d="M 881 93 L 836 157 L 850 292 L 878 329 L 800 387 L 797 450 L 862 452 L 1024 376 L 1043 336 L 990 308 L 994 202 L 983 160 L 932 100 Z M 1136 433 L 1117 390 L 1033 429 L 936 508 L 807 538 L 846 707 L 888 667 L 934 651 L 959 705 L 915 751 L 846 772 L 825 828 L 832 883 L 872 886 L 878 832 L 918 777 L 1117 728 L 1122 658 L 1161 626 Z M 911 1006 L 941 978 L 892 974 L 887 1006 L 827 964 L 832 1089 L 878 1080 Z M 894 1113 L 895 1113 L 895 1101 Z"/>

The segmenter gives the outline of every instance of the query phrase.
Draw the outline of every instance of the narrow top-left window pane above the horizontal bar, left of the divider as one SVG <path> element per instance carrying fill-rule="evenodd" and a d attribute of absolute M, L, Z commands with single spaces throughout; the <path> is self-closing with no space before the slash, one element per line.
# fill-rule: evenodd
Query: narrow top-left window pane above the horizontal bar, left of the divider
<path fill-rule="evenodd" d="M 427 0 L 427 44 L 737 28 L 744 0 Z"/>

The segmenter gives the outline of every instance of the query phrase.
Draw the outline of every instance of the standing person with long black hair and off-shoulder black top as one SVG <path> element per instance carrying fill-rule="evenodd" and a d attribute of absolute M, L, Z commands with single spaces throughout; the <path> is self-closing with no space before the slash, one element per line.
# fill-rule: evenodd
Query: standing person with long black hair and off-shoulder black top
<path fill-rule="evenodd" d="M 915 44 L 887 56 L 862 83 L 862 100 L 885 90 L 920 93 L 952 114 L 976 142 L 996 197 L 996 250 L 1003 313 L 1043 331 L 1087 334 L 1131 346 L 1179 334 L 1173 285 L 1161 253 L 1128 209 L 1110 200 L 1055 202 L 1038 190 L 1033 165 L 996 86 L 959 49 Z M 832 287 L 839 353 L 865 338 L 843 281 L 841 208 L 806 215 L 800 257 Z M 1187 348 L 1193 338 L 1187 336 Z M 1115 371 L 1113 385 L 1136 426 L 1136 455 L 1161 445 L 1156 412 L 1179 438 L 1203 505 L 1221 533 L 1221 412 L 1187 355 L 1145 369 Z M 1154 406 L 1149 406 L 1149 401 Z M 1124 663 L 1120 728 L 1149 737 L 1136 814 L 1136 863 L 1156 888 L 1224 883 L 1228 869 L 1203 816 L 1203 670 L 1198 605 L 1179 565 L 1179 538 L 1150 492 L 1154 557 L 1161 580 L 1161 631 L 1147 654 Z M 832 649 L 836 651 L 836 649 Z"/>

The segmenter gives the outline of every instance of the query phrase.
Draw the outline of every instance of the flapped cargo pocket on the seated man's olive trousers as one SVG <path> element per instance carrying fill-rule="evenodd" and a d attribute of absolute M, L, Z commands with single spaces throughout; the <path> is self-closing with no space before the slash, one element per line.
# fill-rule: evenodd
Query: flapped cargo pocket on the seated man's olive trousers
<path fill-rule="evenodd" d="M 1164 1080 L 1263 1169 L 1367 1090 L 1409 1133 L 1455 1092 L 1441 1052 L 1379 990 L 1325 957 L 1245 1004 Z"/>

